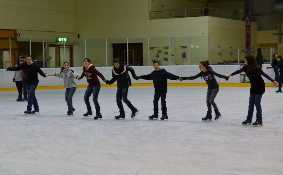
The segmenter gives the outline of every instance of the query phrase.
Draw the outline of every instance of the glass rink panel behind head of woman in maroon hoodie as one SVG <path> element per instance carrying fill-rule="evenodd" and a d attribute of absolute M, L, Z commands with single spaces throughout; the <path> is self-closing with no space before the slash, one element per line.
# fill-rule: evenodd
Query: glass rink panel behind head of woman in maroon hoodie
<path fill-rule="evenodd" d="M 84 57 L 84 51 L 80 50 L 80 55 L 82 54 Z M 86 58 L 97 67 L 106 66 L 105 38 L 86 39 Z M 83 66 L 83 59 L 80 60 L 80 65 Z"/>

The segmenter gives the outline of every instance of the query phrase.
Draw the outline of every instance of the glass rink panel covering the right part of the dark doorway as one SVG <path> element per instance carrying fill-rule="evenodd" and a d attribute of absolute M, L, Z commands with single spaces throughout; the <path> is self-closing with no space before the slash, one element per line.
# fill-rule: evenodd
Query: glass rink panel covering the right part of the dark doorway
<path fill-rule="evenodd" d="M 129 38 L 128 47 L 129 47 L 130 66 L 149 65 L 148 38 Z M 127 51 L 124 52 L 125 55 L 127 55 Z"/>

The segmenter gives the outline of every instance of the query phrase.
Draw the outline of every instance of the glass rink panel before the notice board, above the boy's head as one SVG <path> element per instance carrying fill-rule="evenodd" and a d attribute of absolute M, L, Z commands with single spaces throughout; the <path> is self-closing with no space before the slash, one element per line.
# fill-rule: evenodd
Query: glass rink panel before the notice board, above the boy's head
<path fill-rule="evenodd" d="M 169 37 L 149 38 L 149 64 L 157 60 L 160 65 L 170 65 L 169 54 Z"/>

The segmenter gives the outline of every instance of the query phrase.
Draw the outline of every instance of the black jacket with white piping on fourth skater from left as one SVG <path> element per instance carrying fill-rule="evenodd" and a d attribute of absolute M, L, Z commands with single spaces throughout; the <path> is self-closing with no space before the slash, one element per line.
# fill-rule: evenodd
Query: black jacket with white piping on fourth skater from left
<path fill-rule="evenodd" d="M 112 79 L 109 80 L 109 85 L 117 81 L 118 88 L 126 88 L 132 85 L 131 78 L 128 71 L 131 72 L 133 78 L 136 77 L 135 71 L 132 67 L 125 64 L 120 64 L 119 69 L 113 67 L 112 69 Z"/>

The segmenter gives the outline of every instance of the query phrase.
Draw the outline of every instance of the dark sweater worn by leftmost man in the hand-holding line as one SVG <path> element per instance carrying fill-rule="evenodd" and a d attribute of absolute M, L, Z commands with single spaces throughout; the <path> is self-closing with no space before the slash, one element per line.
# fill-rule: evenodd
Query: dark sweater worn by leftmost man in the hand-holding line
<path fill-rule="evenodd" d="M 23 70 L 26 75 L 26 82 L 29 84 L 38 84 L 38 76 L 39 73 L 41 76 L 45 76 L 45 73 L 39 68 L 38 64 L 32 62 L 32 64 L 27 64 L 27 62 L 23 62 L 18 67 L 11 67 L 11 71 Z"/>

